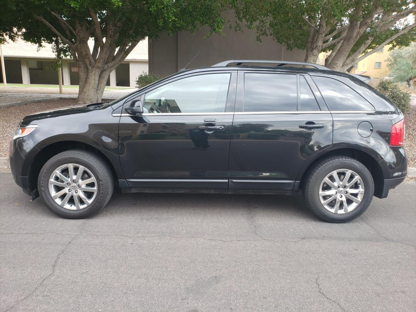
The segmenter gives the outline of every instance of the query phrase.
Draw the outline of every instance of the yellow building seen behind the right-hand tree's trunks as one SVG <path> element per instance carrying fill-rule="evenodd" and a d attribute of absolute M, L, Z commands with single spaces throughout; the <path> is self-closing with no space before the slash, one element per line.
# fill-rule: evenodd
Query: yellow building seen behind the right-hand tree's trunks
<path fill-rule="evenodd" d="M 349 71 L 351 74 L 366 75 L 370 77 L 388 77 L 389 68 L 387 67 L 386 59 L 389 58 L 389 48 L 391 45 L 386 45 L 380 48 L 377 52 L 369 55 L 365 59 L 362 59 L 352 67 Z M 319 54 L 318 64 L 325 64 L 325 59 L 330 52 L 321 52 Z"/>

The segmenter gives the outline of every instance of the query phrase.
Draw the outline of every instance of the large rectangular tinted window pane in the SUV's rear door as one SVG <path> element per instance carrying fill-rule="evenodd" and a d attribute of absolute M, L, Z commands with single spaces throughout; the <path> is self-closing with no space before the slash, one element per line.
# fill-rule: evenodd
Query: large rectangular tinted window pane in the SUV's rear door
<path fill-rule="evenodd" d="M 244 74 L 244 111 L 296 111 L 296 75 Z"/>

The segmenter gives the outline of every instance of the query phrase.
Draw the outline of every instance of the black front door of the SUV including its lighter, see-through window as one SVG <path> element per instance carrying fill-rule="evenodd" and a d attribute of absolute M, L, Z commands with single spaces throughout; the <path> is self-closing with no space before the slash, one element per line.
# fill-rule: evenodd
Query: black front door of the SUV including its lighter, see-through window
<path fill-rule="evenodd" d="M 119 124 L 129 186 L 227 189 L 236 81 L 237 72 L 199 72 L 138 94 L 144 114 L 123 111 Z"/>

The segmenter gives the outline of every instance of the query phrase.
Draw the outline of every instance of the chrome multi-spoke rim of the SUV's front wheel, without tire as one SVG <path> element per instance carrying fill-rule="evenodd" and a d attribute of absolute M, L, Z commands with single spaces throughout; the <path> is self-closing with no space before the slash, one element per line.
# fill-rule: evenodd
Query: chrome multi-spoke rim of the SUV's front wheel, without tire
<path fill-rule="evenodd" d="M 87 208 L 97 196 L 97 180 L 87 168 L 75 163 L 59 166 L 49 178 L 49 193 L 62 208 Z"/>

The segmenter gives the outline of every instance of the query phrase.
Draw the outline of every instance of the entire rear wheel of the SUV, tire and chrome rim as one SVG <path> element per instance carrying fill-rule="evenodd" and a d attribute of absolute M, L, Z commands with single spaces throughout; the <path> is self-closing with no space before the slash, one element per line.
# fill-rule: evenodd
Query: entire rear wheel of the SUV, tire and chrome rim
<path fill-rule="evenodd" d="M 359 161 L 333 156 L 312 168 L 303 193 L 307 205 L 319 218 L 347 222 L 359 217 L 370 205 L 374 181 Z"/>

